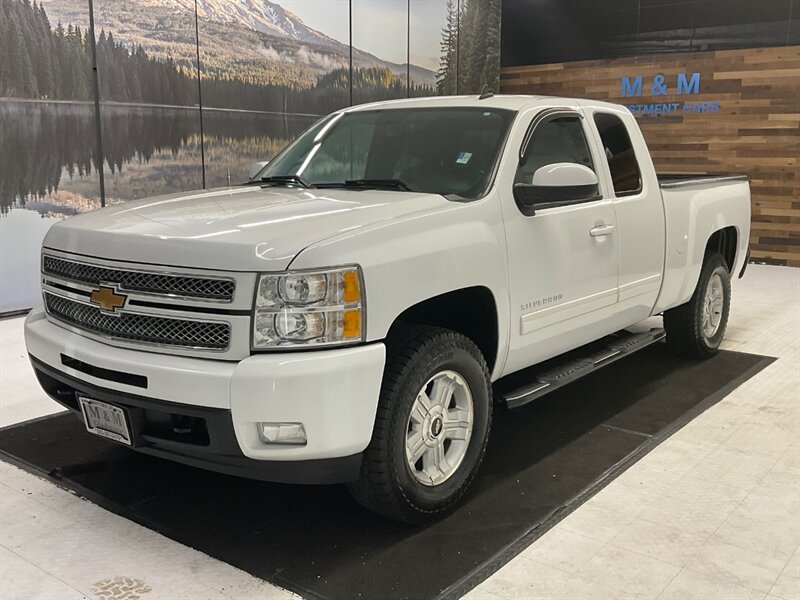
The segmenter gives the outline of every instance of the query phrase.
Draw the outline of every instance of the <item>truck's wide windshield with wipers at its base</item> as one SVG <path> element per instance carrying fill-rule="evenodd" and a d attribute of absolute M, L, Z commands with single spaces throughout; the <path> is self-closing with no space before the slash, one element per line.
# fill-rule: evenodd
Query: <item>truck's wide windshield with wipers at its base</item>
<path fill-rule="evenodd" d="M 508 110 L 452 107 L 336 113 L 292 142 L 256 180 L 479 198 L 513 117 Z"/>

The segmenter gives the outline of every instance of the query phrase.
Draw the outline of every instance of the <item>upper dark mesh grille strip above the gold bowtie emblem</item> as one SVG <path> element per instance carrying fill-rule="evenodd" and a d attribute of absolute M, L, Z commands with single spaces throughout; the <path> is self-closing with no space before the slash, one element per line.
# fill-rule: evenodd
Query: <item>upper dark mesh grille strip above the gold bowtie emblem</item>
<path fill-rule="evenodd" d="M 116 283 L 119 285 L 119 289 L 131 292 L 226 302 L 233 300 L 236 288 L 235 282 L 230 279 L 114 269 L 47 255 L 42 260 L 42 273 L 91 285 Z"/>

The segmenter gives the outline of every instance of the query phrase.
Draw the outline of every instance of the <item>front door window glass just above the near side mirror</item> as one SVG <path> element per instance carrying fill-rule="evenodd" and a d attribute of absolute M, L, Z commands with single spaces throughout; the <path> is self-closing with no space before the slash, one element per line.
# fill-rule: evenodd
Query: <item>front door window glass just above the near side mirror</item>
<path fill-rule="evenodd" d="M 594 170 L 580 117 L 558 116 L 537 125 L 517 167 L 514 183 L 530 183 L 540 167 L 571 162 Z"/>

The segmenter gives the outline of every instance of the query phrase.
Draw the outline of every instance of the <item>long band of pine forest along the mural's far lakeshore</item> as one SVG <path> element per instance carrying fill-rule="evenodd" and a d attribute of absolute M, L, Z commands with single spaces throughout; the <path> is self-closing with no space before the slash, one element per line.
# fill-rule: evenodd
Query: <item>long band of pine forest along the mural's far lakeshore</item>
<path fill-rule="evenodd" d="M 88 30 L 72 24 L 53 26 L 44 7 L 35 1 L 0 1 L 0 97 L 90 100 L 91 65 Z M 141 46 L 115 40 L 113 33 L 100 31 L 97 37 L 97 67 L 103 101 L 198 104 L 194 70 L 176 65 L 171 58 L 148 56 Z M 349 79 L 347 68 L 330 71 L 305 88 L 203 73 L 203 105 L 325 114 L 348 104 Z M 353 73 L 353 95 L 358 102 L 402 97 L 406 87 L 405 77 L 387 68 L 359 67 Z M 436 91 L 412 83 L 408 93 L 423 96 Z"/>

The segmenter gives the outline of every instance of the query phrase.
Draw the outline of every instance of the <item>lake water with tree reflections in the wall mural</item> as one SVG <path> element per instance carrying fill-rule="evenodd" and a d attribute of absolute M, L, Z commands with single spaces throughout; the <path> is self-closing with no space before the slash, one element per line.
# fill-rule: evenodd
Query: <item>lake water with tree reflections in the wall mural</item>
<path fill-rule="evenodd" d="M 202 187 L 197 108 L 104 103 L 101 116 L 107 203 Z M 316 119 L 203 109 L 206 187 L 243 182 Z M 94 126 L 91 103 L 0 100 L 0 312 L 39 302 L 49 226 L 100 207 Z"/>

